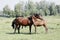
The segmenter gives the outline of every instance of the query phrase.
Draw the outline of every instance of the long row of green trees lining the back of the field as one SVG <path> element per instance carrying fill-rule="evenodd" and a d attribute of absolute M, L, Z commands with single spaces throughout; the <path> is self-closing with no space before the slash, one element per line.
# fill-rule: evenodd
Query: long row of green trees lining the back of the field
<path fill-rule="evenodd" d="M 8 15 L 9 17 L 26 17 L 34 13 L 39 13 L 42 16 L 60 15 L 60 5 L 56 5 L 53 2 L 49 3 L 47 1 L 35 3 L 28 1 L 25 4 L 23 2 L 15 4 L 14 10 L 11 10 L 8 5 L 3 8 L 3 14 Z"/>

